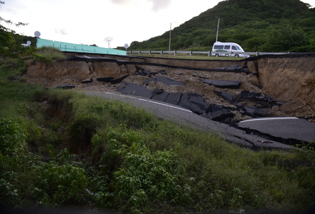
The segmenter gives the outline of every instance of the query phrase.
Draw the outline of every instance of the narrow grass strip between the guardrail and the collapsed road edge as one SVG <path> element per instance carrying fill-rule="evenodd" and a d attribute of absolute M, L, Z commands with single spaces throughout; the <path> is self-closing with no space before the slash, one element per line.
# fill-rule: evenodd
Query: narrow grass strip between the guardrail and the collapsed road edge
<path fill-rule="evenodd" d="M 197 55 L 192 54 L 129 54 L 132 56 L 140 56 L 140 57 L 164 57 L 164 58 L 174 58 L 174 59 L 193 59 L 193 60 L 242 60 L 246 59 L 245 57 L 215 57 L 215 56 L 208 56 L 208 55 Z"/>

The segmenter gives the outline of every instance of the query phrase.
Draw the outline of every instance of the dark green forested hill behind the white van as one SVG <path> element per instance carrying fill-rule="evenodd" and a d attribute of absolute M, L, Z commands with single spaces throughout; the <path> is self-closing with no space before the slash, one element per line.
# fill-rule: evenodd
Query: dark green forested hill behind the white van
<path fill-rule="evenodd" d="M 300 0 L 226 0 L 172 30 L 171 50 L 212 50 L 220 21 L 220 42 L 245 51 L 315 52 L 315 8 Z M 169 31 L 129 50 L 168 50 Z"/>

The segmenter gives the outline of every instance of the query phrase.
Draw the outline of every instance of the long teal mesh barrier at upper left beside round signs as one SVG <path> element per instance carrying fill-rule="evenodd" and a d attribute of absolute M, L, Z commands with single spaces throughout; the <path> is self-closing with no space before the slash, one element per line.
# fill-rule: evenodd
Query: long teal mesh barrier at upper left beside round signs
<path fill-rule="evenodd" d="M 101 48 L 101 47 L 95 47 L 95 46 L 83 45 L 83 44 L 58 42 L 54 40 L 41 39 L 41 38 L 37 38 L 36 45 L 37 45 L 37 48 L 40 48 L 43 46 L 51 46 L 51 47 L 60 49 L 61 51 L 72 51 L 72 52 L 78 52 L 78 53 L 127 55 L 127 52 L 124 50 Z"/>

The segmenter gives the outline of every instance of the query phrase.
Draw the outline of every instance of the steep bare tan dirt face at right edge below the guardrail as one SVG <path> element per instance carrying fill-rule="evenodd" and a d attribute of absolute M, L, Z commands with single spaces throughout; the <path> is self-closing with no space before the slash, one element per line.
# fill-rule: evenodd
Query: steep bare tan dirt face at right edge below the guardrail
<path fill-rule="evenodd" d="M 261 58 L 258 82 L 263 91 L 284 101 L 299 102 L 292 108 L 296 115 L 303 106 L 315 111 L 315 57 Z"/>

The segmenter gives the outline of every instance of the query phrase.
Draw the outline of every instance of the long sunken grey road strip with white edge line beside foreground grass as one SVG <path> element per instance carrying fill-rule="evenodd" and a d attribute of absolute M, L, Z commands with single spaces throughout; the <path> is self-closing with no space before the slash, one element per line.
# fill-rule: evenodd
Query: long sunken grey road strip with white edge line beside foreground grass
<path fill-rule="evenodd" d="M 255 134 L 247 134 L 244 130 L 236 129 L 227 124 L 215 122 L 201 117 L 190 110 L 175 106 L 161 101 L 153 101 L 146 98 L 139 98 L 131 95 L 122 95 L 118 93 L 107 92 L 85 92 L 87 95 L 100 96 L 110 100 L 120 100 L 128 102 L 137 107 L 144 107 L 146 110 L 154 113 L 160 119 L 168 119 L 179 124 L 189 125 L 198 129 L 209 130 L 223 137 L 226 141 L 236 143 L 249 148 L 290 148 L 289 145 L 280 142 L 269 142 L 266 139 Z"/>

